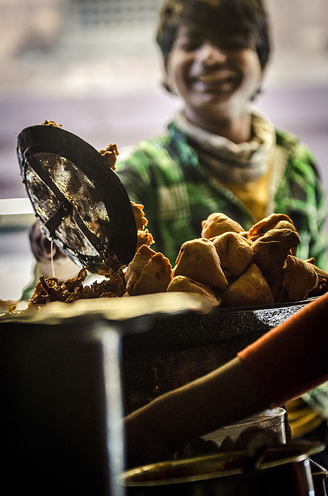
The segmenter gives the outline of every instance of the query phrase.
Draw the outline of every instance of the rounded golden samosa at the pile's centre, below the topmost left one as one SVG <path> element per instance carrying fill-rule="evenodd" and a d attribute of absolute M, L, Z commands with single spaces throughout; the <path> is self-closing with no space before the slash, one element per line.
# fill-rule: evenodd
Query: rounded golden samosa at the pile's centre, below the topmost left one
<path fill-rule="evenodd" d="M 222 270 L 229 280 L 237 279 L 253 261 L 250 241 L 238 233 L 224 233 L 211 239 L 221 261 Z"/>

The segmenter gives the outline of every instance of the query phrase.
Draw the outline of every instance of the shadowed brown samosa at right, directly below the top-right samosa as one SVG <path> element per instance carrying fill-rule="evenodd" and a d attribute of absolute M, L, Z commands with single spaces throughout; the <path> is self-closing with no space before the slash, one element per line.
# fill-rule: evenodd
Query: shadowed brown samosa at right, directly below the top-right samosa
<path fill-rule="evenodd" d="M 291 248 L 300 242 L 298 234 L 291 229 L 272 229 L 252 244 L 254 262 L 270 286 L 280 275 L 287 255 L 292 254 Z"/>

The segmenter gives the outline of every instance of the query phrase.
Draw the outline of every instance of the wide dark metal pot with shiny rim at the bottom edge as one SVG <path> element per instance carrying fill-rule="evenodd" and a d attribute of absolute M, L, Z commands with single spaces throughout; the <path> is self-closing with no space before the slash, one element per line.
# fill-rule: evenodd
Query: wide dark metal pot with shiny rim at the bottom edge
<path fill-rule="evenodd" d="M 222 452 L 125 471 L 128 496 L 315 496 L 308 456 L 318 443 Z"/>

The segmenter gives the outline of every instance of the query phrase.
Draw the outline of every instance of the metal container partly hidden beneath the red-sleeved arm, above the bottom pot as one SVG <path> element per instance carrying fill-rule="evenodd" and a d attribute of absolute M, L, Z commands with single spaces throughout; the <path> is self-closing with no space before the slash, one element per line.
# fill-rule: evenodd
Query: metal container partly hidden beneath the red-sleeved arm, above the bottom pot
<path fill-rule="evenodd" d="M 214 441 L 221 449 L 246 448 L 250 440 L 257 434 L 268 438 L 269 444 L 285 444 L 286 433 L 284 426 L 283 408 L 265 410 L 262 413 L 217 431 L 202 436 L 205 441 Z"/>

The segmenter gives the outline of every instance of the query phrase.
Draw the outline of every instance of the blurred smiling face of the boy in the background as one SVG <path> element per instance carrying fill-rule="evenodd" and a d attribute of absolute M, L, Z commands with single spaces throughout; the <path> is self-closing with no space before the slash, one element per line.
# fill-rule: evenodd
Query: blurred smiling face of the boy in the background
<path fill-rule="evenodd" d="M 231 121 L 248 112 L 262 81 L 255 45 L 239 34 L 181 26 L 166 65 L 166 84 L 185 101 L 189 121 Z"/>

